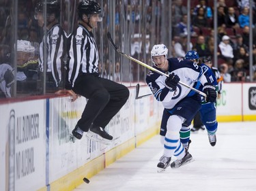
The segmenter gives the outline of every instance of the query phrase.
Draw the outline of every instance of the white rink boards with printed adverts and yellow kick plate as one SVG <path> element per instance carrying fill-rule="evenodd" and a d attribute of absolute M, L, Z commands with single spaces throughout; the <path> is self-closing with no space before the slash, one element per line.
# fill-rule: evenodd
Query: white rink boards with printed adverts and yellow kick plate
<path fill-rule="evenodd" d="M 147 86 L 139 96 L 150 93 Z M 1 112 L 0 190 L 73 190 L 138 145 L 158 134 L 162 105 L 154 97 L 126 105 L 107 129 L 115 137 L 105 146 L 85 137 L 72 143 L 70 132 L 86 100 L 69 97 L 3 103 Z M 217 102 L 218 122 L 256 121 L 256 83 L 224 84 Z M 256 127 L 255 127 L 256 128 Z"/>

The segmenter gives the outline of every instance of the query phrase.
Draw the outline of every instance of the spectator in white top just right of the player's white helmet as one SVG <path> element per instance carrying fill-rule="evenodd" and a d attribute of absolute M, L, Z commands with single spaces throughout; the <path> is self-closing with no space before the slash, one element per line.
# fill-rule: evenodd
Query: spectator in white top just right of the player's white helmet
<path fill-rule="evenodd" d="M 176 57 L 184 57 L 186 55 L 187 50 L 187 37 L 183 33 L 180 34 L 180 39 L 174 44 L 174 51 Z M 192 43 L 190 42 L 190 48 L 191 50 L 193 48 Z"/>

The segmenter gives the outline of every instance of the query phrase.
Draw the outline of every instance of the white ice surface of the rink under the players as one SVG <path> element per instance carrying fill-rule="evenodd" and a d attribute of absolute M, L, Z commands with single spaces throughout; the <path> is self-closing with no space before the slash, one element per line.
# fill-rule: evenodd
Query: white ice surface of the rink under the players
<path fill-rule="evenodd" d="M 255 191 L 256 122 L 222 122 L 216 135 L 212 147 L 206 131 L 191 133 L 195 161 L 163 173 L 156 168 L 163 150 L 157 135 L 75 191 Z"/>

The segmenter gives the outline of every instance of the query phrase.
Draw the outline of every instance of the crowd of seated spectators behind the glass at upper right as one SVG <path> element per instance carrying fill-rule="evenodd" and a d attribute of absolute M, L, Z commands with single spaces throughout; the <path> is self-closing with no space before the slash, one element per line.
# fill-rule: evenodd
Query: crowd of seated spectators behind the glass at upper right
<path fill-rule="evenodd" d="M 199 56 L 214 57 L 214 1 L 195 0 L 190 10 L 190 48 Z M 250 80 L 249 54 L 253 54 L 253 80 L 256 81 L 256 3 L 249 0 L 225 1 L 217 4 L 217 63 L 224 82 Z M 173 56 L 187 51 L 187 1 L 173 1 Z M 250 16 L 253 8 L 253 52 L 249 52 Z"/>

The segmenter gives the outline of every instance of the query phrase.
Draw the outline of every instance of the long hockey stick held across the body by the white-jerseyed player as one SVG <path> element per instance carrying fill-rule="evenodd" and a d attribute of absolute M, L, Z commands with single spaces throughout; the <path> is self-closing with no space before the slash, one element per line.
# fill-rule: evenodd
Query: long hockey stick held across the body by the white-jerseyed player
<path fill-rule="evenodd" d="M 147 64 L 141 62 L 140 60 L 137 60 L 136 58 L 132 58 L 132 56 L 128 56 L 128 55 L 125 54 L 124 52 L 121 52 L 121 50 L 119 50 L 119 49 L 117 48 L 117 46 L 115 45 L 115 43 L 113 42 L 113 39 L 112 39 L 111 34 L 110 34 L 109 32 L 107 33 L 107 37 L 108 37 L 108 39 L 109 39 L 109 42 L 110 42 L 111 46 L 113 46 L 113 48 L 115 49 L 115 51 L 117 51 L 117 52 L 118 52 L 119 54 L 121 54 L 122 56 L 124 56 L 124 57 L 126 57 L 126 58 L 128 58 L 128 59 L 130 59 L 130 60 L 132 60 L 132 61 L 134 61 L 135 63 L 138 63 L 139 65 L 142 65 L 143 67 L 146 67 L 147 69 L 150 69 L 150 70 L 152 70 L 152 71 L 155 71 L 156 73 L 159 73 L 160 75 L 165 75 L 166 77 L 169 77 L 168 74 L 163 73 L 162 71 L 159 71 L 158 69 L 155 69 L 154 67 L 151 67 L 150 65 L 147 65 Z M 201 92 L 201 91 L 199 91 L 199 90 L 197 90 L 197 89 L 195 89 L 195 88 L 193 88 L 193 87 L 190 87 L 190 86 L 188 86 L 187 84 L 184 84 L 183 82 L 179 82 L 179 84 L 181 84 L 182 86 L 185 86 L 186 88 L 190 88 L 190 90 L 193 90 L 193 91 L 195 91 L 195 92 L 201 94 L 203 97 L 207 97 L 204 92 Z"/>

